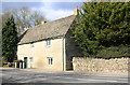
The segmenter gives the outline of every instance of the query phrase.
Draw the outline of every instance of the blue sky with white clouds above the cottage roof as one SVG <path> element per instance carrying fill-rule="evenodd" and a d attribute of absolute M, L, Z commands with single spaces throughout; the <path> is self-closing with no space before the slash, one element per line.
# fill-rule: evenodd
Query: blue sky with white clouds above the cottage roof
<path fill-rule="evenodd" d="M 80 9 L 82 2 L 2 2 L 2 11 L 28 6 L 42 12 L 48 20 L 55 20 L 73 15 L 77 5 Z"/>

